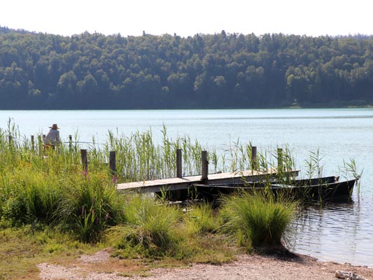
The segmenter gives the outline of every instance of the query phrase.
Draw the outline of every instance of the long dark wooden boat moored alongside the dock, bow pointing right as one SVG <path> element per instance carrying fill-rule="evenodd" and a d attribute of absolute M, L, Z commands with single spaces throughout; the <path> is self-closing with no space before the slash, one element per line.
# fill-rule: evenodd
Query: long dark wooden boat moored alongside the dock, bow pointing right
<path fill-rule="evenodd" d="M 272 191 L 274 195 L 284 195 L 307 202 L 346 202 L 351 200 L 353 186 L 357 179 L 339 181 L 337 176 L 289 181 L 256 181 L 230 184 L 196 184 L 197 193 L 212 198 L 237 190 Z"/>

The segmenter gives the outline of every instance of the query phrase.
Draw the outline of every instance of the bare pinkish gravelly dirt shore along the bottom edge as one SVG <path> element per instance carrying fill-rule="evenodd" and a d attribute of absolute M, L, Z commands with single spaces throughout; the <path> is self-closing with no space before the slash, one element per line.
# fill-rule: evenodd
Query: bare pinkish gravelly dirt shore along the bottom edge
<path fill-rule="evenodd" d="M 336 262 L 318 262 L 306 255 L 293 255 L 289 258 L 279 256 L 240 255 L 236 261 L 223 265 L 194 264 L 187 268 L 157 268 L 140 275 L 125 275 L 112 269 L 102 271 L 99 269 L 103 263 L 111 267 L 113 258 L 108 251 L 99 251 L 95 255 L 85 255 L 76 260 L 76 263 L 64 267 L 42 263 L 38 265 L 40 278 L 71 279 L 71 280 L 288 280 L 288 279 L 337 279 L 335 272 L 355 272 L 360 279 L 373 280 L 373 268 L 357 267 Z M 115 267 L 115 265 L 113 265 Z M 97 268 L 97 269 L 95 269 Z M 359 278 L 355 278 L 360 280 Z"/>

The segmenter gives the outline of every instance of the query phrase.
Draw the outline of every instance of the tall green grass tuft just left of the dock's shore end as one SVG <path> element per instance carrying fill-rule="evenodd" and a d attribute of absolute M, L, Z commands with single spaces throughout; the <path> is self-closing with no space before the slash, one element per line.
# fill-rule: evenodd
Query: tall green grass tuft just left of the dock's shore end
<path fill-rule="evenodd" d="M 114 225 L 120 204 L 124 203 L 122 197 L 97 174 L 77 174 L 69 178 L 66 188 L 55 212 L 55 224 L 62 230 L 72 230 L 85 243 L 100 241 L 104 230 Z"/>

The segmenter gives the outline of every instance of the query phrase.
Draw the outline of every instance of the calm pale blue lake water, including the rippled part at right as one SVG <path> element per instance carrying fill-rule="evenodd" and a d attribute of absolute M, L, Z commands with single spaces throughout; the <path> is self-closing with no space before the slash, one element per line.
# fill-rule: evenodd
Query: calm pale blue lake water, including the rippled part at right
<path fill-rule="evenodd" d="M 300 169 L 319 151 L 323 175 L 340 175 L 344 160 L 353 159 L 363 170 L 360 195 L 355 188 L 352 203 L 310 208 L 293 222 L 288 247 L 319 260 L 373 267 L 373 109 L 0 111 L 1 129 L 9 118 L 24 137 L 46 134 L 57 123 L 64 141 L 78 134 L 81 142 L 102 144 L 109 130 L 129 135 L 151 129 L 157 142 L 165 125 L 169 137 L 188 135 L 208 149 L 223 151 L 237 139 L 251 141 L 258 152 L 288 145 Z"/>

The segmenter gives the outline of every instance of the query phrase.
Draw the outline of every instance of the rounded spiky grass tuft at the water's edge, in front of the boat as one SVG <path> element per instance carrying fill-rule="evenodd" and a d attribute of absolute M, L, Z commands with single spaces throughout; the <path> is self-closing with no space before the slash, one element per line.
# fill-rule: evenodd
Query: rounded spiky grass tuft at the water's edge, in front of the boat
<path fill-rule="evenodd" d="M 297 210 L 297 202 L 276 200 L 260 192 L 225 197 L 223 232 L 241 246 L 277 246 Z"/>

